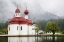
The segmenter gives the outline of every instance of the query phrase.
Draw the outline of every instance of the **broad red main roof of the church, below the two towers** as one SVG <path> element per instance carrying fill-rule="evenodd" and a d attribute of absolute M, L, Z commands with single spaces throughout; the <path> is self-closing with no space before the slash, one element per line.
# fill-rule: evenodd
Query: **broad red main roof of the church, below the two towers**
<path fill-rule="evenodd" d="M 14 17 L 9 21 L 9 23 L 11 24 L 32 24 L 30 20 L 25 19 L 23 17 Z"/>

